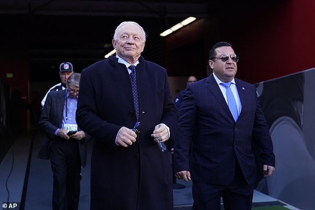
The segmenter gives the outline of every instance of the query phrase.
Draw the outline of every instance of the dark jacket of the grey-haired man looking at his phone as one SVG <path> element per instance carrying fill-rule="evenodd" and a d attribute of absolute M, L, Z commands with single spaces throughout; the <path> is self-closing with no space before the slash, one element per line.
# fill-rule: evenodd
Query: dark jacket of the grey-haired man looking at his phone
<path fill-rule="evenodd" d="M 65 106 L 66 90 L 51 91 L 49 92 L 45 106 L 42 111 L 41 118 L 39 120 L 39 125 L 45 131 L 46 135 L 44 137 L 43 143 L 38 153 L 38 158 L 49 159 L 49 146 L 58 138 L 54 135 L 58 128 L 61 128 L 64 106 Z M 78 128 L 79 130 L 79 128 Z M 85 136 L 87 136 L 85 134 Z M 81 163 L 84 167 L 86 165 L 86 139 L 78 140 Z"/>

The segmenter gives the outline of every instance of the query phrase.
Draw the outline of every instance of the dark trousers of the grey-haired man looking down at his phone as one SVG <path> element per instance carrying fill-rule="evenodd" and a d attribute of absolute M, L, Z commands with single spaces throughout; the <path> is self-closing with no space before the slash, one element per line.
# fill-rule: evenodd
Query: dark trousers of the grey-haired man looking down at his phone
<path fill-rule="evenodd" d="M 54 174 L 53 210 L 78 210 L 81 159 L 79 142 L 58 138 L 49 148 Z"/>

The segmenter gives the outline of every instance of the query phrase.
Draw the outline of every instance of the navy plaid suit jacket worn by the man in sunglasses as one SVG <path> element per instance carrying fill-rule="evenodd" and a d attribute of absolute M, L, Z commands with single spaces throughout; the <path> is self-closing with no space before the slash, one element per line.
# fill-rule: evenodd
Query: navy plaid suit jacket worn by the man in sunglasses
<path fill-rule="evenodd" d="M 263 164 L 275 165 L 255 86 L 235 81 L 242 105 L 237 122 L 212 74 L 185 90 L 174 139 L 175 172 L 187 170 L 193 180 L 228 185 L 238 161 L 247 183 L 252 184 L 256 178 L 254 146 Z"/>

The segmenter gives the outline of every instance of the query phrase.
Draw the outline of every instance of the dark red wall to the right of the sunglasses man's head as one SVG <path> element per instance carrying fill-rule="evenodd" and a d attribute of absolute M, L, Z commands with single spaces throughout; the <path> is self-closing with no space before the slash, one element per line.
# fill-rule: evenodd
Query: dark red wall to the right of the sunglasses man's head
<path fill-rule="evenodd" d="M 313 0 L 291 0 L 257 19 L 234 44 L 236 76 L 255 83 L 315 67 L 314 11 Z"/>

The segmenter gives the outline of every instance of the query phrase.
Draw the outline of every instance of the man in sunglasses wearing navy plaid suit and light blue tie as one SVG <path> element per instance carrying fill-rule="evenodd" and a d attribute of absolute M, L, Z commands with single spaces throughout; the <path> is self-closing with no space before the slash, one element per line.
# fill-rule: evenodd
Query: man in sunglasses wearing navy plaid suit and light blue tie
<path fill-rule="evenodd" d="M 174 139 L 176 177 L 193 180 L 193 210 L 220 210 L 221 195 L 225 210 L 250 210 L 256 178 L 253 147 L 260 152 L 264 177 L 275 170 L 269 128 L 255 86 L 235 78 L 238 56 L 232 46 L 215 44 L 209 59 L 213 73 L 188 85 L 183 95 Z M 225 82 L 232 83 L 231 97 Z"/>

